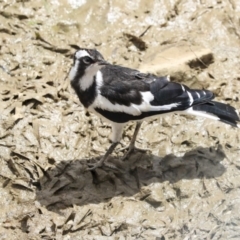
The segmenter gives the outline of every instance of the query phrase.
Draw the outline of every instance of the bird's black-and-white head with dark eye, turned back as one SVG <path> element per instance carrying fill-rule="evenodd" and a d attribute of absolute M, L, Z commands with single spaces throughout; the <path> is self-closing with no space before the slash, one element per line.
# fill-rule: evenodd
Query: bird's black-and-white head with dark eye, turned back
<path fill-rule="evenodd" d="M 94 76 L 103 66 L 108 65 L 97 50 L 81 48 L 73 56 L 73 65 L 69 73 L 71 81 L 84 75 Z"/>

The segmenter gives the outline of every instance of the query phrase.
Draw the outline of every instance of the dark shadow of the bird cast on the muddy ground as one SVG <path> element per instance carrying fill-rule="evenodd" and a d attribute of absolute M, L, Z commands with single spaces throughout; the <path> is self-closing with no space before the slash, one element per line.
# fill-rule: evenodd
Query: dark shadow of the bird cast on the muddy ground
<path fill-rule="evenodd" d="M 220 145 L 197 147 L 182 157 L 170 154 L 161 158 L 137 152 L 125 162 L 111 158 L 118 171 L 104 167 L 92 172 L 85 171 L 87 160 L 66 160 L 45 172 L 38 182 L 36 200 L 51 211 L 59 211 L 106 202 L 119 195 L 132 196 L 154 182 L 215 178 L 225 172 L 221 164 L 224 157 Z"/>

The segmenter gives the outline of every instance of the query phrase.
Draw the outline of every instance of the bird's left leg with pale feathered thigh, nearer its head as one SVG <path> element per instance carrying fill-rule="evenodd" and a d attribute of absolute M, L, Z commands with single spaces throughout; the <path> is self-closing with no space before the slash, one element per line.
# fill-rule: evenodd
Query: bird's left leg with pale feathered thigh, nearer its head
<path fill-rule="evenodd" d="M 122 123 L 113 123 L 112 122 L 112 144 L 108 148 L 105 155 L 101 158 L 101 160 L 93 165 L 91 165 L 87 170 L 91 171 L 96 168 L 102 167 L 104 164 L 104 161 L 106 161 L 109 157 L 109 155 L 113 152 L 113 150 L 116 148 L 118 143 L 120 142 L 120 139 L 122 137 L 122 131 L 125 124 Z"/>

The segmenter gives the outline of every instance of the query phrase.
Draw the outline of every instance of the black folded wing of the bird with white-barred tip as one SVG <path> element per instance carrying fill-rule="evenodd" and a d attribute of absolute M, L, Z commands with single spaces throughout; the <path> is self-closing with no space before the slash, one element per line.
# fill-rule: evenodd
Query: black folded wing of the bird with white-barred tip
<path fill-rule="evenodd" d="M 189 89 L 185 85 L 170 82 L 167 77 L 145 74 L 131 68 L 109 65 L 101 71 L 104 84 L 100 92 L 112 104 L 136 104 L 141 107 L 144 101 L 149 100 L 152 108 L 148 111 L 174 103 L 177 106 L 172 107 L 172 110 L 177 111 L 207 102 L 214 97 L 209 91 Z M 142 93 L 146 92 L 151 93 L 152 99 L 143 99 Z"/>

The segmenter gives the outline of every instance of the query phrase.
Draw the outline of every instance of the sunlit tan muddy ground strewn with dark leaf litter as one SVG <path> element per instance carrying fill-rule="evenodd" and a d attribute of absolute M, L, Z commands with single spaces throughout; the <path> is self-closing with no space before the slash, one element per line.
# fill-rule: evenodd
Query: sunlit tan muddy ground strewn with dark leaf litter
<path fill-rule="evenodd" d="M 240 109 L 240 2 L 0 0 L 0 239 L 240 239 L 240 131 L 172 115 L 110 144 L 64 80 L 74 45 Z M 126 146 L 134 129 L 123 135 Z"/>

